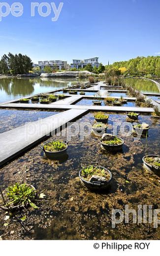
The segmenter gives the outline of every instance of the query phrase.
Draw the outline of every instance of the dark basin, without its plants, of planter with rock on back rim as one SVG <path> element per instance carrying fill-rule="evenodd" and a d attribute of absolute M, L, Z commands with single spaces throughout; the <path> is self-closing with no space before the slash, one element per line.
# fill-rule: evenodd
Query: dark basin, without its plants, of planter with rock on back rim
<path fill-rule="evenodd" d="M 119 138 L 119 139 L 122 141 L 122 143 L 121 143 L 121 144 L 118 144 L 118 145 L 112 145 L 112 144 L 104 144 L 104 143 L 103 143 L 104 137 L 105 137 L 105 139 L 107 139 L 107 140 L 111 140 L 111 139 L 114 139 L 115 136 L 112 135 L 112 134 L 109 134 L 109 133 L 103 134 L 103 136 L 102 136 L 102 138 L 99 140 L 99 142 L 100 142 L 101 146 L 102 146 L 105 150 L 113 151 L 113 152 L 121 151 L 121 150 L 122 150 L 123 145 L 124 145 L 124 143 L 125 143 L 123 139 L 117 137 L 117 138 Z"/>

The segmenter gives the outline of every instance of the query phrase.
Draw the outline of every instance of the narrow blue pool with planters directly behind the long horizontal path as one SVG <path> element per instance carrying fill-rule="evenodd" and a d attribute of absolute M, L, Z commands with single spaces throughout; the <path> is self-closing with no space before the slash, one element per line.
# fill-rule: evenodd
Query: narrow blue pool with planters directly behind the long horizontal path
<path fill-rule="evenodd" d="M 94 105 L 93 100 L 94 99 L 83 98 L 83 99 L 79 100 L 77 103 L 75 103 L 75 105 L 92 106 L 92 105 Z M 111 103 L 105 103 L 104 100 L 101 100 L 101 101 L 102 101 L 101 106 L 116 106 L 116 105 L 111 104 Z M 122 104 L 121 106 L 123 106 L 123 107 L 135 107 L 136 104 L 135 104 L 135 101 L 128 101 L 127 103 Z"/>

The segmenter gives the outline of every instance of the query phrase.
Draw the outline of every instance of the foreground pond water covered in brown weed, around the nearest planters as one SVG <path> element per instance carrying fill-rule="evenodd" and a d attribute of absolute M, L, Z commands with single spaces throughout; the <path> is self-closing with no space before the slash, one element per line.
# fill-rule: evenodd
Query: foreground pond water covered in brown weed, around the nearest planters
<path fill-rule="evenodd" d="M 43 202 L 36 202 L 38 209 L 18 212 L 5 227 L 5 212 L 0 211 L 2 239 L 160 239 L 160 226 L 154 228 L 153 223 L 133 224 L 130 220 L 129 224 L 122 222 L 111 227 L 112 209 L 124 211 L 126 204 L 136 212 L 138 205 L 151 204 L 153 209 L 159 208 L 160 178 L 143 168 L 142 157 L 160 154 L 160 122 L 147 115 L 140 115 L 139 121 L 149 124 L 148 138 L 137 141 L 133 135 L 127 136 L 124 130 L 118 130 L 118 135 L 125 140 L 123 152 L 109 153 L 101 149 L 99 137 L 88 134 L 82 139 L 79 132 L 71 137 L 67 155 L 60 161 L 48 160 L 37 145 L 1 168 L 3 189 L 23 180 L 39 192 L 44 190 L 46 195 Z M 76 125 L 83 122 L 94 124 L 94 113 L 83 116 Z M 126 115 L 109 113 L 108 132 L 113 131 L 115 122 L 126 122 Z M 47 141 L 68 139 L 68 129 L 64 131 L 63 136 Z M 112 173 L 111 188 L 106 192 L 91 192 L 79 180 L 81 164 L 86 166 L 93 160 Z M 26 220 L 21 225 L 23 216 Z M 11 234 L 11 230 L 15 232 Z"/>

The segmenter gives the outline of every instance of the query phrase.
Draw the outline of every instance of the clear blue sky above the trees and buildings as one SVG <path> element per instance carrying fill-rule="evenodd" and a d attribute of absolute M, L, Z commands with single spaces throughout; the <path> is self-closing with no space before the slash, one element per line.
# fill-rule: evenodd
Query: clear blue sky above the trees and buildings
<path fill-rule="evenodd" d="M 41 17 L 31 2 L 21 17 L 11 14 L 0 22 L 0 56 L 27 54 L 40 60 L 86 59 L 99 57 L 107 64 L 137 56 L 160 55 L 160 0 L 48 0 L 56 6 L 64 2 L 57 22 Z M 10 5 L 13 0 L 4 0 Z M 44 9 L 45 11 L 46 9 Z"/>

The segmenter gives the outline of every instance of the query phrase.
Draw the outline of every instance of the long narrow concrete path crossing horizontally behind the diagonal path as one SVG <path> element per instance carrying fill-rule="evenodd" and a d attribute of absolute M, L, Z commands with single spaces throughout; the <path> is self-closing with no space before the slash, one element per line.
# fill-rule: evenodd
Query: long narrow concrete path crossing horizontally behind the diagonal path
<path fill-rule="evenodd" d="M 108 111 L 108 112 L 126 112 L 133 111 L 139 113 L 152 113 L 153 108 L 146 107 L 119 107 L 119 106 L 90 106 L 90 105 L 59 105 L 59 104 L 26 104 L 26 103 L 9 103 L 0 106 L 1 108 L 16 109 L 45 109 L 45 110 L 66 110 L 66 109 L 88 109 L 91 111 Z"/>

